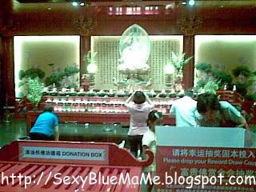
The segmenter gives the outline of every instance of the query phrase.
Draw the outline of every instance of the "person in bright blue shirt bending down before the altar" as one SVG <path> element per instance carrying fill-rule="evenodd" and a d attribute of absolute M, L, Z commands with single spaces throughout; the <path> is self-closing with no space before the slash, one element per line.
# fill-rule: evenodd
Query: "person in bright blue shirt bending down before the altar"
<path fill-rule="evenodd" d="M 46 106 L 42 114 L 38 115 L 30 130 L 31 140 L 58 141 L 58 117 L 53 111 L 54 107 Z"/>

